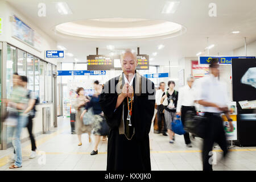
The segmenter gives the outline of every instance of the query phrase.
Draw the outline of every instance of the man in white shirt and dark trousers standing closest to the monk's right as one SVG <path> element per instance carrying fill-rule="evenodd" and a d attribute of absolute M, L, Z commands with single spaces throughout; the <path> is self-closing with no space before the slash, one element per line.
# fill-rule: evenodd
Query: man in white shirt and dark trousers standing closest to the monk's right
<path fill-rule="evenodd" d="M 166 128 L 166 119 L 164 119 L 164 106 L 161 104 L 161 99 L 164 93 L 164 90 L 166 88 L 166 83 L 165 82 L 160 82 L 159 85 L 159 90 L 156 91 L 155 94 L 155 103 L 157 105 L 157 117 L 158 117 L 158 134 L 163 133 L 164 136 L 168 136 L 166 134 L 167 128 Z M 162 125 L 163 124 L 163 125 Z M 163 127 L 163 130 L 162 130 Z"/>

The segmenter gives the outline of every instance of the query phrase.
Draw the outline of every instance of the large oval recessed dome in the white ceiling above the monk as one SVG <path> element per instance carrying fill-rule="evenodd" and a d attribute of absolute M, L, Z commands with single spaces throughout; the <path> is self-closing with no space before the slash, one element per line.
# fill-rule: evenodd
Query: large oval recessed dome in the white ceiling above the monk
<path fill-rule="evenodd" d="M 178 36 L 185 32 L 185 27 L 165 20 L 102 18 L 62 23 L 55 30 L 60 34 L 80 38 L 144 39 Z"/>

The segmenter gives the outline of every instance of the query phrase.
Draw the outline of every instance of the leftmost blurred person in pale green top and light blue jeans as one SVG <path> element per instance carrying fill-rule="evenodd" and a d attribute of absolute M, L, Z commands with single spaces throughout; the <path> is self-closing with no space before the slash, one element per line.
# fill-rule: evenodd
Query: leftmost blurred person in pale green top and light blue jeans
<path fill-rule="evenodd" d="M 7 111 L 10 115 L 15 115 L 15 123 L 6 123 L 7 125 L 7 138 L 12 138 L 14 147 L 14 164 L 9 168 L 20 168 L 22 167 L 22 148 L 20 145 L 20 134 L 22 127 L 27 125 L 27 114 L 24 110 L 27 108 L 28 99 L 27 92 L 22 84 L 22 79 L 18 73 L 13 75 L 13 92 L 10 94 L 9 100 L 3 100 L 3 103 L 7 106 Z M 7 117 L 7 119 L 8 119 Z M 7 120 L 6 119 L 6 120 Z"/>

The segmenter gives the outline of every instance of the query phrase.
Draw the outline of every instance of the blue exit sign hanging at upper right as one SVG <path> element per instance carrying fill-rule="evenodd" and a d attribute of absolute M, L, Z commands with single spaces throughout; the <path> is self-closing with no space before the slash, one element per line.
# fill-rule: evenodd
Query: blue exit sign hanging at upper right
<path fill-rule="evenodd" d="M 213 58 L 218 58 L 220 64 L 231 64 L 232 59 L 255 59 L 255 56 L 200 56 L 200 64 L 210 64 Z"/>

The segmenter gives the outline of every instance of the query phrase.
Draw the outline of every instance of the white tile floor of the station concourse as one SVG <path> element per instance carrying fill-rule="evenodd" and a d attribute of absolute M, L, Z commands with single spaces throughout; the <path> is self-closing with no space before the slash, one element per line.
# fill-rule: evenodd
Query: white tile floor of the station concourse
<path fill-rule="evenodd" d="M 93 150 L 94 138 L 92 143 L 88 141 L 88 135 L 82 135 L 82 146 L 77 146 L 77 135 L 70 132 L 69 118 L 59 117 L 59 128 L 51 134 L 40 135 L 36 138 L 38 141 L 38 152 L 44 151 L 46 155 L 37 156 L 35 159 L 28 159 L 30 155 L 30 142 L 22 143 L 23 147 L 23 164 L 22 168 L 9 169 L 10 162 L 2 162 L 0 171 L 104 171 L 106 170 L 106 151 L 107 142 L 101 141 L 98 151 L 101 154 L 91 156 Z M 59 133 L 57 133 L 59 132 Z M 40 141 L 40 142 L 39 142 Z M 151 168 L 153 171 L 200 171 L 201 164 L 201 139 L 192 140 L 192 148 L 187 148 L 184 144 L 183 136 L 176 135 L 175 144 L 168 143 L 168 137 L 160 134 L 150 133 L 151 143 Z M 218 150 L 218 148 L 216 148 Z M 234 147 L 232 149 L 252 149 L 251 151 L 232 151 L 228 156 L 228 160 L 224 163 L 221 161 L 222 152 L 217 152 L 217 164 L 213 169 L 250 171 L 256 170 L 256 147 Z M 10 156 L 12 148 L 0 151 L 0 161 L 5 156 Z M 45 156 L 45 158 L 44 158 Z M 44 162 L 45 159 L 45 163 Z"/>

